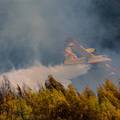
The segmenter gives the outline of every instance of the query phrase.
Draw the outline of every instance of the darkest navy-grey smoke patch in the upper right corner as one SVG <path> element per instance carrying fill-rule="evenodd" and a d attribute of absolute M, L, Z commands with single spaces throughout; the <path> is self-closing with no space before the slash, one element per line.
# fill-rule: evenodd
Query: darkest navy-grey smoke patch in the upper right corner
<path fill-rule="evenodd" d="M 103 35 L 98 39 L 100 46 L 117 53 L 120 52 L 120 1 L 93 0 L 93 4 L 103 30 Z"/>

